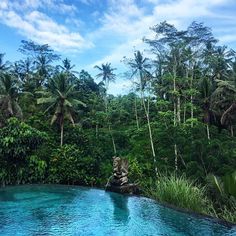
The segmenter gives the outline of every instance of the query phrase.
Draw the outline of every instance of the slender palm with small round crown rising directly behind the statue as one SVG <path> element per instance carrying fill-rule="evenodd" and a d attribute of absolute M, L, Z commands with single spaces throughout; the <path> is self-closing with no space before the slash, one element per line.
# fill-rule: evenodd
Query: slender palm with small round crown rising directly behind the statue
<path fill-rule="evenodd" d="M 115 144 L 115 140 L 114 140 L 114 137 L 113 137 L 113 134 L 112 134 L 111 125 L 109 123 L 108 101 L 107 101 L 107 90 L 109 88 L 109 83 L 115 81 L 116 75 L 113 73 L 113 71 L 116 70 L 116 68 L 112 68 L 111 63 L 102 64 L 101 67 L 96 65 L 94 68 L 97 68 L 98 70 L 100 70 L 100 73 L 97 74 L 97 78 L 102 78 L 101 82 L 105 85 L 104 101 L 105 101 L 105 109 L 106 109 L 106 116 L 107 116 L 107 122 L 108 122 L 108 129 L 109 129 L 109 133 L 111 135 L 113 150 L 114 150 L 114 153 L 116 155 L 116 144 Z"/>

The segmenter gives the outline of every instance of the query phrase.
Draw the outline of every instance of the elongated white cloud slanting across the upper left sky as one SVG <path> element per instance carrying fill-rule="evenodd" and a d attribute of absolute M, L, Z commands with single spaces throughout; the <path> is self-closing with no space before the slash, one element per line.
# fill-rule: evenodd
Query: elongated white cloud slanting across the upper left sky
<path fill-rule="evenodd" d="M 48 1 L 48 4 L 53 2 L 54 0 Z M 28 0 L 24 3 L 31 7 L 39 4 L 37 0 Z M 15 28 L 28 39 L 40 44 L 49 44 L 58 51 L 78 52 L 93 47 L 92 42 L 85 40 L 79 32 L 70 31 L 40 11 L 33 10 L 22 15 L 14 9 L 8 1 L 3 0 L 0 5 L 1 23 Z"/>

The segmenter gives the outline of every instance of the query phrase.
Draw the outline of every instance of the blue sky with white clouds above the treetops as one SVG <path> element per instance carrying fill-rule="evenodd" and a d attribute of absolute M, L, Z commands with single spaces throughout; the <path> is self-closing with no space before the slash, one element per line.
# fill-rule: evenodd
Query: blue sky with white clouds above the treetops
<path fill-rule="evenodd" d="M 123 56 L 147 49 L 142 38 L 151 38 L 149 27 L 163 20 L 179 29 L 204 22 L 236 49 L 236 0 L 0 0 L 0 52 L 18 60 L 20 41 L 31 39 L 92 75 L 94 65 L 110 62 L 118 72 L 110 92 L 119 94 L 131 84 L 121 76 Z"/>

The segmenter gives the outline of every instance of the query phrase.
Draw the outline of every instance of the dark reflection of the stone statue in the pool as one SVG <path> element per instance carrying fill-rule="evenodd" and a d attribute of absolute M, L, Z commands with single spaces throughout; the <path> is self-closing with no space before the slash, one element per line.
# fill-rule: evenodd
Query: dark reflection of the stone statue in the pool
<path fill-rule="evenodd" d="M 116 193 L 109 193 L 113 203 L 113 219 L 118 224 L 127 225 L 129 222 L 128 197 Z"/>

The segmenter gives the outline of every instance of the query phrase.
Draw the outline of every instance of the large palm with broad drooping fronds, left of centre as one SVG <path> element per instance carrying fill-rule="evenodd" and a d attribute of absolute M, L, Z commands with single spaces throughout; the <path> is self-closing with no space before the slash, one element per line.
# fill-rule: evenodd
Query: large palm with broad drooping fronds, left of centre
<path fill-rule="evenodd" d="M 38 91 L 37 93 L 42 96 L 37 99 L 37 103 L 48 104 L 45 112 L 53 110 L 51 124 L 55 121 L 59 123 L 62 146 L 65 119 L 68 119 L 74 125 L 73 114 L 77 111 L 78 106 L 86 105 L 76 99 L 78 91 L 75 90 L 75 85 L 69 82 L 65 73 L 55 75 L 49 80 L 48 89 L 45 91 Z"/>

